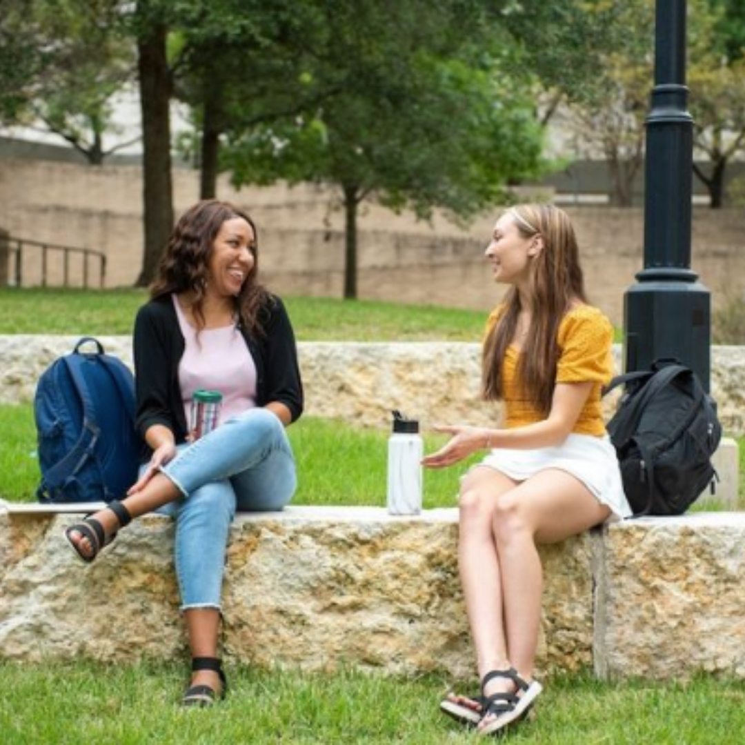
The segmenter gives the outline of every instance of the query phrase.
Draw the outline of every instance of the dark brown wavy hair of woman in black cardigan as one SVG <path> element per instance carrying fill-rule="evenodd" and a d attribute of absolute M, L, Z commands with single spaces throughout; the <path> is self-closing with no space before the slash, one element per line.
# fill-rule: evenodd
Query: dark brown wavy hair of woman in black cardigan
<path fill-rule="evenodd" d="M 191 206 L 176 223 L 165 253 L 159 262 L 158 276 L 150 287 L 150 297 L 176 293 L 191 293 L 191 306 L 197 329 L 205 325 L 204 301 L 209 275 L 209 259 L 223 223 L 233 218 L 244 219 L 253 229 L 253 268 L 248 273 L 241 292 L 235 297 L 235 313 L 241 326 L 253 335 L 264 335 L 261 310 L 270 294 L 258 282 L 259 231 L 247 212 L 229 202 L 206 199 Z"/>

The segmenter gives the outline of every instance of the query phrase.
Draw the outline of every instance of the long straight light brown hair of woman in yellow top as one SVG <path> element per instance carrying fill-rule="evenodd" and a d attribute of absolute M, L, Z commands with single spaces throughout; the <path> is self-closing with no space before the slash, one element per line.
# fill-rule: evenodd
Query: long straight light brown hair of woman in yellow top
<path fill-rule="evenodd" d="M 530 329 L 516 374 L 527 398 L 548 414 L 559 361 L 559 324 L 572 302 L 587 302 L 577 237 L 568 215 L 554 205 L 520 204 L 506 212 L 523 238 L 540 235 L 543 239 L 543 249 L 530 259 Z M 504 398 L 502 365 L 522 308 L 516 288 L 507 291 L 504 305 L 484 343 L 481 390 L 487 401 Z"/>

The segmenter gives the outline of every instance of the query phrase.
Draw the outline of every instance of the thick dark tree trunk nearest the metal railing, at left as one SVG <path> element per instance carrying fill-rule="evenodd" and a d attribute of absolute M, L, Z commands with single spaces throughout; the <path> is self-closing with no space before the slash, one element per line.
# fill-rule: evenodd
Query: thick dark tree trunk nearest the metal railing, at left
<path fill-rule="evenodd" d="M 138 287 L 156 275 L 160 256 L 174 226 L 171 185 L 171 74 L 165 54 L 166 28 L 153 22 L 138 39 L 138 71 L 142 106 L 143 215 L 145 251 Z"/>

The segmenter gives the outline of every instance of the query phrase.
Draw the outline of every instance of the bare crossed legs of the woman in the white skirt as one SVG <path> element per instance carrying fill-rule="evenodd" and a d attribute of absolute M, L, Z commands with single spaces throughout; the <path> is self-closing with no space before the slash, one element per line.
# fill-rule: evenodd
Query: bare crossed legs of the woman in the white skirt
<path fill-rule="evenodd" d="M 473 469 L 460 491 L 458 565 L 480 679 L 515 668 L 533 675 L 541 618 L 537 543 L 553 543 L 603 522 L 609 508 L 566 472 L 546 470 L 516 482 L 488 467 Z M 509 678 L 482 693 L 516 692 Z M 461 703 L 468 703 L 458 697 Z M 494 717 L 487 715 L 480 728 Z"/>

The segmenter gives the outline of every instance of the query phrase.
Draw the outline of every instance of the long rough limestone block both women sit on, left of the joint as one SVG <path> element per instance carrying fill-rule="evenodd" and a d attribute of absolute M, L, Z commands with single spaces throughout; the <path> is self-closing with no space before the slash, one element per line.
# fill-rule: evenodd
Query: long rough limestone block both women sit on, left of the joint
<path fill-rule="evenodd" d="M 148 516 L 92 565 L 64 545 L 71 516 L 0 516 L 0 656 L 186 656 L 173 527 Z M 539 670 L 592 663 L 592 536 L 542 548 Z M 457 574 L 457 510 L 375 507 L 239 515 L 223 589 L 226 657 L 307 670 L 472 676 Z"/>

